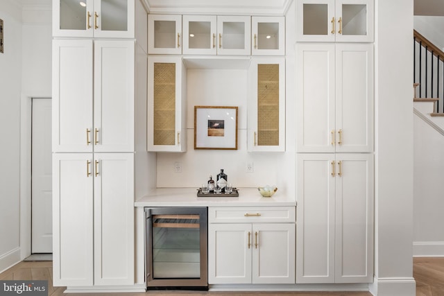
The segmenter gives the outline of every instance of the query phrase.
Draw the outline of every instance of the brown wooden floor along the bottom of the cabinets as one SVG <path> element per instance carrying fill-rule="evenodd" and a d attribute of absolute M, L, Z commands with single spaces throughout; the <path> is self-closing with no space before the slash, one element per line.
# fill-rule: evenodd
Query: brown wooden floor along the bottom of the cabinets
<path fill-rule="evenodd" d="M 49 296 L 104 296 L 103 293 L 63 293 L 65 287 L 52 286 L 52 261 L 20 262 L 5 272 L 0 273 L 0 280 L 47 280 Z M 416 279 L 416 296 L 444 296 L 444 258 L 414 258 L 413 277 Z M 109 294 L 108 294 L 109 295 Z M 112 293 L 112 296 L 198 296 L 198 295 L 225 295 L 225 296 L 370 296 L 368 292 L 195 292 L 195 291 L 148 291 L 148 293 Z"/>

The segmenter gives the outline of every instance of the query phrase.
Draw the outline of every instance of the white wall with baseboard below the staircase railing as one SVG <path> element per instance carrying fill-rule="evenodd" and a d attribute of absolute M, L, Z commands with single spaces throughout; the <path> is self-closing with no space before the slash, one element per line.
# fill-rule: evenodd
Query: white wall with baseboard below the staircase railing
<path fill-rule="evenodd" d="M 432 112 L 432 103 L 425 114 Z M 418 106 L 421 107 L 421 106 Z M 443 118 L 436 118 L 443 123 Z M 434 121 L 434 118 L 429 118 Z M 443 256 L 444 136 L 420 117 L 414 118 L 413 254 Z"/>

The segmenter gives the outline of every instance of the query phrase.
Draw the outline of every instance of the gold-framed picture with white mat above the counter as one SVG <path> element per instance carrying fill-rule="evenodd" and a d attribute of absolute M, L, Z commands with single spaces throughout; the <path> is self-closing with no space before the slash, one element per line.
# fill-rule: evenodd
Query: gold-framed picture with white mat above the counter
<path fill-rule="evenodd" d="M 194 149 L 237 150 L 237 107 L 194 106 Z"/>

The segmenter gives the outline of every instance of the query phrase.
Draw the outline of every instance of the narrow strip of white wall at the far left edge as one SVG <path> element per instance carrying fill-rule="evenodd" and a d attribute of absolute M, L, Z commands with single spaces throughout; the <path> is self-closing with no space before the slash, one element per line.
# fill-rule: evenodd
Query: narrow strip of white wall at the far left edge
<path fill-rule="evenodd" d="M 0 270 L 19 259 L 20 92 L 22 13 L 15 1 L 2 1 L 4 53 L 0 53 Z"/>

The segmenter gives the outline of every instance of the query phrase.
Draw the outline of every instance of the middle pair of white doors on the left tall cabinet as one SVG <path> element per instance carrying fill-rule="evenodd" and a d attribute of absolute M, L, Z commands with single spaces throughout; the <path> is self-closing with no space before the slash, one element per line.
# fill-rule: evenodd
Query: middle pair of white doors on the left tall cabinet
<path fill-rule="evenodd" d="M 134 41 L 53 40 L 53 73 L 53 152 L 133 152 Z"/>

